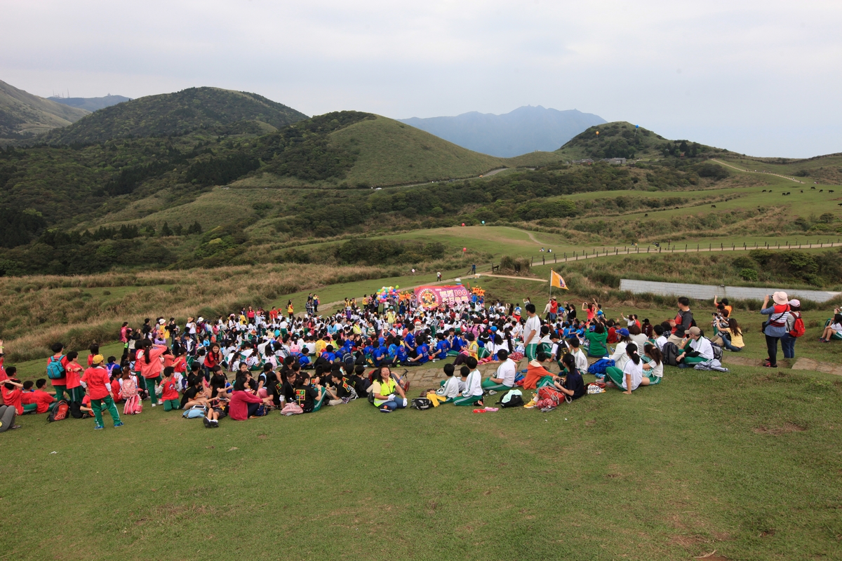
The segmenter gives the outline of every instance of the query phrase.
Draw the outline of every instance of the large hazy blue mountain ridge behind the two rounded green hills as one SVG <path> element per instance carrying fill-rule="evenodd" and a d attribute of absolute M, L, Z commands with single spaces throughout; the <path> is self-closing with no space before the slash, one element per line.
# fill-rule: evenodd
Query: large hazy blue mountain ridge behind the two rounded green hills
<path fill-rule="evenodd" d="M 599 115 L 541 105 L 525 105 L 501 115 L 472 111 L 456 117 L 397 120 L 463 148 L 498 157 L 556 151 L 588 127 L 605 123 Z"/>

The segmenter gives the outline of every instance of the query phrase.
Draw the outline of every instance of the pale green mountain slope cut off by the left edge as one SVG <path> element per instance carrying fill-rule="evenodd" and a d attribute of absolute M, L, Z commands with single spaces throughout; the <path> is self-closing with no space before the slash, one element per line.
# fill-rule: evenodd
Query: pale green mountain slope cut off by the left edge
<path fill-rule="evenodd" d="M 20 140 L 66 127 L 89 112 L 39 98 L 0 81 L 0 140 Z"/>

